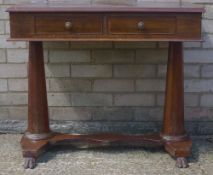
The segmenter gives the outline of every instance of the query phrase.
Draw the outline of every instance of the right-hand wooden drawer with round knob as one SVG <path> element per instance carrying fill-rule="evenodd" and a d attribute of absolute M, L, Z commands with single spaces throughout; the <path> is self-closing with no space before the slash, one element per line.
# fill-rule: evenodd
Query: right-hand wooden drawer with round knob
<path fill-rule="evenodd" d="M 176 17 L 162 15 L 109 16 L 110 34 L 174 34 Z"/>

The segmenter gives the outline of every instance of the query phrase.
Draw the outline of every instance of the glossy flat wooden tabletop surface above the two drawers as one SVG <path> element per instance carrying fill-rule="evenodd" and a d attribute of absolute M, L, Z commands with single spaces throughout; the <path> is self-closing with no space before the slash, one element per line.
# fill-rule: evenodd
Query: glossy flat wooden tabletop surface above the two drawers
<path fill-rule="evenodd" d="M 117 0 L 32 0 L 7 9 L 8 12 L 203 12 L 201 5 L 175 2 Z"/>

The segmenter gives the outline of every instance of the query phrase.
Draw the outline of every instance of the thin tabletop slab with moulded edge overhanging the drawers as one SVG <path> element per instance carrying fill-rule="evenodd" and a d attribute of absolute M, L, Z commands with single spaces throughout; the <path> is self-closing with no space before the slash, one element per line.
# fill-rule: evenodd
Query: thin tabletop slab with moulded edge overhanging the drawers
<path fill-rule="evenodd" d="M 7 12 L 176 12 L 202 13 L 200 4 L 179 3 L 136 3 L 127 4 L 72 4 L 72 3 L 23 3 L 9 7 Z"/>

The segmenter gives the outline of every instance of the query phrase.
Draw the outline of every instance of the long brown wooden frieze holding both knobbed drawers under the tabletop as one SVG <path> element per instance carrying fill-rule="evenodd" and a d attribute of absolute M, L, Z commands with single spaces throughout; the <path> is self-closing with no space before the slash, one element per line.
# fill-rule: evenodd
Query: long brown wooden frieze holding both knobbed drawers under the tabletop
<path fill-rule="evenodd" d="M 201 40 L 200 13 L 11 13 L 10 21 L 15 40 Z"/>

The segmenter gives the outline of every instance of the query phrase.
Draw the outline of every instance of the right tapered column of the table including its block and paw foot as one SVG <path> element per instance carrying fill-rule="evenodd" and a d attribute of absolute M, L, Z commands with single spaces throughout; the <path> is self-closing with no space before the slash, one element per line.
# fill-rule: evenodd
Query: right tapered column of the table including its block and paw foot
<path fill-rule="evenodd" d="M 162 137 L 165 149 L 177 158 L 177 167 L 187 167 L 191 139 L 184 128 L 183 48 L 181 42 L 169 43 L 167 82 Z"/>

